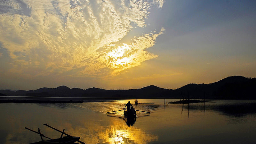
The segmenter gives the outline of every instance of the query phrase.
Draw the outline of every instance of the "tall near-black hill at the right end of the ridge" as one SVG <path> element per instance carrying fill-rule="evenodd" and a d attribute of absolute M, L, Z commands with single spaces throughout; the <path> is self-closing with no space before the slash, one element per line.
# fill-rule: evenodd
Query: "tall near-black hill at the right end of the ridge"
<path fill-rule="evenodd" d="M 197 99 L 256 99 L 256 78 L 229 76 L 211 84 L 188 84 L 172 92 L 171 97 Z"/>

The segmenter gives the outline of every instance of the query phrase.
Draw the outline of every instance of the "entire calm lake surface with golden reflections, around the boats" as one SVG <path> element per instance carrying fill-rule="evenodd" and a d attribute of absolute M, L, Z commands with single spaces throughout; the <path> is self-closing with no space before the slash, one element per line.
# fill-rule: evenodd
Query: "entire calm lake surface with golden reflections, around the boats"
<path fill-rule="evenodd" d="M 136 119 L 124 118 L 120 110 L 128 100 L 84 103 L 1 103 L 1 143 L 32 143 L 40 136 L 60 133 L 81 137 L 85 143 L 256 143 L 255 100 L 210 100 L 205 103 L 167 104 L 164 99 L 139 99 L 133 107 Z M 175 101 L 165 99 L 166 102 Z M 45 140 L 47 140 L 45 138 Z"/>

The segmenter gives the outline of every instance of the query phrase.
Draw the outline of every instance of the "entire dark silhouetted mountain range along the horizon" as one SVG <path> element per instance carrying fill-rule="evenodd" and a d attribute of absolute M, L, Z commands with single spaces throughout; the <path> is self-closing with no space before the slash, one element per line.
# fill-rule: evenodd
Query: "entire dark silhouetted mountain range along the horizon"
<path fill-rule="evenodd" d="M 100 88 L 40 88 L 37 90 L 0 90 L 7 96 L 44 97 L 115 97 L 115 98 L 178 98 L 178 99 L 256 99 L 256 78 L 229 76 L 211 84 L 187 84 L 178 89 L 164 89 L 154 85 L 140 89 L 105 90 Z"/>

